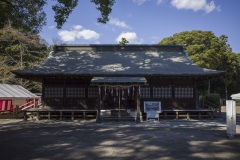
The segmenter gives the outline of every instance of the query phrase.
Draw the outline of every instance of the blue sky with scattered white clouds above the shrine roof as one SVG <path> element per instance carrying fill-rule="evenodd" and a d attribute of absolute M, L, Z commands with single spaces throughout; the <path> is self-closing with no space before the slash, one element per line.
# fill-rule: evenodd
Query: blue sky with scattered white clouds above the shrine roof
<path fill-rule="evenodd" d="M 56 29 L 49 1 L 47 25 L 40 35 L 49 44 L 117 44 L 121 37 L 131 44 L 156 44 L 175 33 L 212 31 L 228 36 L 240 53 L 239 0 L 115 0 L 110 21 L 97 23 L 100 13 L 90 0 L 79 0 L 62 29 Z"/>

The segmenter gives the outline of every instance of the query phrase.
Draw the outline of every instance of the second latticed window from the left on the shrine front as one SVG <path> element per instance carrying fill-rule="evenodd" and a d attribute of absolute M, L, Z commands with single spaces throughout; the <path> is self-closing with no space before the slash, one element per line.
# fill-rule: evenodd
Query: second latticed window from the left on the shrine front
<path fill-rule="evenodd" d="M 67 98 L 85 98 L 85 88 L 66 88 Z"/>

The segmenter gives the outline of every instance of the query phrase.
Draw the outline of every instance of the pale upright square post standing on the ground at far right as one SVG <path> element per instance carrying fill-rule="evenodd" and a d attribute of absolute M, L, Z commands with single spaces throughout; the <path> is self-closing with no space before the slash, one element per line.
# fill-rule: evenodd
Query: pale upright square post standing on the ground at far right
<path fill-rule="evenodd" d="M 229 138 L 234 138 L 236 135 L 236 102 L 233 100 L 226 101 L 226 120 L 227 134 Z"/>

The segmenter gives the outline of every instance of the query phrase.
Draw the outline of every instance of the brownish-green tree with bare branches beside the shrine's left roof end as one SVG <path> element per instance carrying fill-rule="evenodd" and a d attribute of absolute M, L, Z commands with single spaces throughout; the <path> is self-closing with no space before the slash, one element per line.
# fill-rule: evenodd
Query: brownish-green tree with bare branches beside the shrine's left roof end
<path fill-rule="evenodd" d="M 11 71 L 39 65 L 47 53 L 44 40 L 37 34 L 20 32 L 10 25 L 0 29 L 0 83 L 21 84 L 30 90 L 39 90 L 39 84 L 16 79 Z"/>

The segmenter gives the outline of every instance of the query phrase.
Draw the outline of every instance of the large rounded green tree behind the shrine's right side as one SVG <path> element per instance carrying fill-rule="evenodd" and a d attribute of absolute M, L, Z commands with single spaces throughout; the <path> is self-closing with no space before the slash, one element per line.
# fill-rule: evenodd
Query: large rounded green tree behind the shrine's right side
<path fill-rule="evenodd" d="M 240 58 L 232 52 L 228 37 L 217 37 L 211 31 L 185 31 L 164 38 L 159 44 L 182 44 L 190 58 L 197 65 L 226 71 L 224 76 L 225 90 L 233 92 L 238 85 Z M 215 83 L 220 86 L 219 83 Z M 225 91 L 221 91 L 224 94 Z"/>

